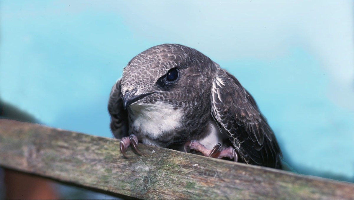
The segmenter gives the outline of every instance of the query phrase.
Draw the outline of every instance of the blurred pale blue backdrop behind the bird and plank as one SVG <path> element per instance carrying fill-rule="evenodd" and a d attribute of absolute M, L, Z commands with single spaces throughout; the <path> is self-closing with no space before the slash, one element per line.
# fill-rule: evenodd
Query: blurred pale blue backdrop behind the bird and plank
<path fill-rule="evenodd" d="M 162 43 L 196 48 L 255 97 L 285 159 L 354 180 L 354 3 L 0 3 L 0 96 L 48 126 L 112 137 L 122 68 Z"/>

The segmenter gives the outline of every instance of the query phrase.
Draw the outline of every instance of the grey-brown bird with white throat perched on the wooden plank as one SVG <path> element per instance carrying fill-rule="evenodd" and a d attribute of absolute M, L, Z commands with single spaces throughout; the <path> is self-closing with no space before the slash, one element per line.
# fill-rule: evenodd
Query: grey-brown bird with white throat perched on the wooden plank
<path fill-rule="evenodd" d="M 138 143 L 282 168 L 274 132 L 255 99 L 200 51 L 161 44 L 133 57 L 108 99 L 110 130 L 125 157 Z"/>

